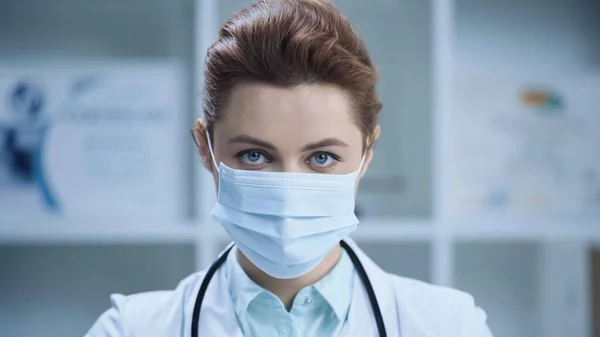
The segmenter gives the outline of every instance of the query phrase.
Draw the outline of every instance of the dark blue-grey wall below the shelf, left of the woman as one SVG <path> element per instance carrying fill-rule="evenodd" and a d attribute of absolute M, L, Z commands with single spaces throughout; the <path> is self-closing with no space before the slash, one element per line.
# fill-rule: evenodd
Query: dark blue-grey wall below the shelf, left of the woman
<path fill-rule="evenodd" d="M 0 246 L 0 335 L 83 336 L 108 294 L 173 289 L 192 245 Z"/>

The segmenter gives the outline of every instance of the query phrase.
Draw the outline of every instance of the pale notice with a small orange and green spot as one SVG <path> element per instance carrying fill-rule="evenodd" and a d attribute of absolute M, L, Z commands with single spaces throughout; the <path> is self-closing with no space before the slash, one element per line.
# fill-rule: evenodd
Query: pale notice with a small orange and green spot
<path fill-rule="evenodd" d="M 462 76 L 448 123 L 451 215 L 600 218 L 600 75 Z"/>

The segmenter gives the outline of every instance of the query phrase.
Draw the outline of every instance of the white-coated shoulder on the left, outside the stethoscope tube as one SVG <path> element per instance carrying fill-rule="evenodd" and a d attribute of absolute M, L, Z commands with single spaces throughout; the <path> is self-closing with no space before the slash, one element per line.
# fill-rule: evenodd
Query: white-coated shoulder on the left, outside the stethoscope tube
<path fill-rule="evenodd" d="M 172 336 L 173 331 L 182 329 L 184 313 L 193 306 L 195 289 L 203 277 L 204 272 L 194 273 L 168 291 L 111 295 L 111 308 L 85 337 Z"/>

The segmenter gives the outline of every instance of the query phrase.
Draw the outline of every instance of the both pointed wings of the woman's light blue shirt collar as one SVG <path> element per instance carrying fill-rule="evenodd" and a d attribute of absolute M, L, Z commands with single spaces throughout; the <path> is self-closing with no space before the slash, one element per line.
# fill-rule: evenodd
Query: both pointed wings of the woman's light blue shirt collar
<path fill-rule="evenodd" d="M 237 259 L 237 247 L 229 252 L 225 264 L 229 292 L 236 313 L 238 317 L 244 317 L 250 303 L 268 290 L 260 287 L 246 275 Z M 354 266 L 344 249 L 338 263 L 325 277 L 307 288 L 311 287 L 325 299 L 340 322 L 343 322 L 350 308 L 354 287 Z M 307 288 L 304 289 L 308 290 Z"/>

